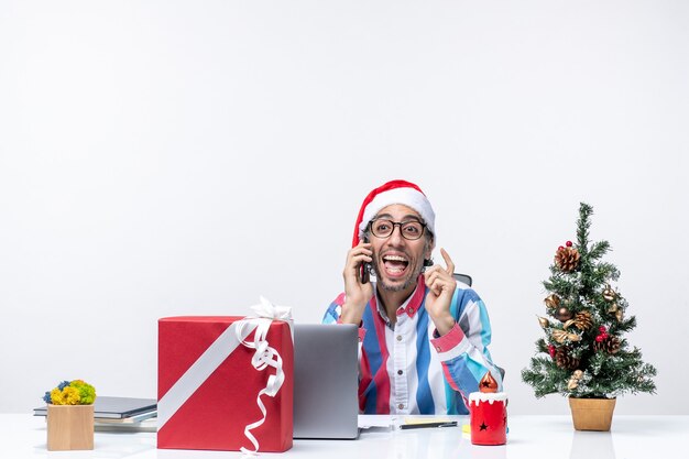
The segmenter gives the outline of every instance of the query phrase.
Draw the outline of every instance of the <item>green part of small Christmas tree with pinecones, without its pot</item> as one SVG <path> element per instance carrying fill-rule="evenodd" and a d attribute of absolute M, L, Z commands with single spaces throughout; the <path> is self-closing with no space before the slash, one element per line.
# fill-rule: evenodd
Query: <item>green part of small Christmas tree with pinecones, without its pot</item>
<path fill-rule="evenodd" d="M 581 203 L 577 243 L 558 248 L 550 277 L 543 284 L 549 317 L 539 317 L 546 337 L 522 379 L 537 397 L 551 393 L 580 398 L 613 398 L 625 392 L 655 393 L 656 369 L 630 350 L 623 335 L 636 327 L 627 302 L 611 286 L 620 271 L 601 261 L 608 241 L 589 244 L 593 209 Z"/>

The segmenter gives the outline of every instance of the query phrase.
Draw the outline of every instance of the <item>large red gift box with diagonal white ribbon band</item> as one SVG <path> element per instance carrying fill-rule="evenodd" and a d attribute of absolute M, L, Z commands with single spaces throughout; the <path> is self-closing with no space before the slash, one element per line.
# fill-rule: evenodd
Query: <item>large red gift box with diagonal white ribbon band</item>
<path fill-rule="evenodd" d="M 254 450 L 244 429 L 263 418 L 256 396 L 276 370 L 269 367 L 259 371 L 252 365 L 255 350 L 240 343 L 236 334 L 242 319 L 158 320 L 158 448 Z M 254 326 L 245 327 L 244 334 Z M 253 341 L 253 337 L 252 331 L 247 341 Z M 258 440 L 260 451 L 281 452 L 292 448 L 293 435 L 294 350 L 289 325 L 273 320 L 265 338 L 282 357 L 285 378 L 275 396 L 261 396 L 265 420 L 250 435 Z"/>

